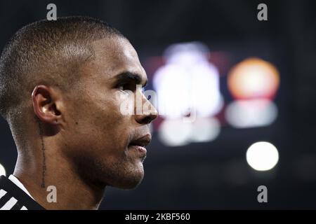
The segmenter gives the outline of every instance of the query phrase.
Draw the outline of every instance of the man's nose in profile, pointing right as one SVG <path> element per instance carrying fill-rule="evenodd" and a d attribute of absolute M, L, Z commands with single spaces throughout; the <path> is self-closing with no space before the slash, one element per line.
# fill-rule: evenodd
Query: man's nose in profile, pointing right
<path fill-rule="evenodd" d="M 138 106 L 136 104 L 136 106 Z M 150 103 L 150 101 L 145 97 L 145 95 L 142 93 L 142 109 L 135 109 L 136 116 L 135 120 L 137 123 L 141 125 L 148 125 L 150 124 L 154 119 L 158 116 L 157 109 Z M 141 113 L 140 113 L 141 112 Z"/>

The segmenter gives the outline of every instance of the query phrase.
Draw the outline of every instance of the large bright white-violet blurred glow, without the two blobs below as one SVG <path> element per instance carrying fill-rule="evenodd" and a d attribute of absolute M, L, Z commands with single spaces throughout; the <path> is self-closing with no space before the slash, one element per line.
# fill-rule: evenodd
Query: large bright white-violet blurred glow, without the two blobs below
<path fill-rule="evenodd" d="M 159 115 L 168 119 L 214 116 L 223 107 L 219 73 L 202 43 L 179 43 L 167 48 L 166 64 L 154 73 Z"/>

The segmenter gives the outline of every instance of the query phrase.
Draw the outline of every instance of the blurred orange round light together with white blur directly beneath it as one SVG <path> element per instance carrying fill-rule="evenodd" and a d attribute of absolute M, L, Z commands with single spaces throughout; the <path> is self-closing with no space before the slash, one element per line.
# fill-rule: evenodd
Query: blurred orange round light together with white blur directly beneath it
<path fill-rule="evenodd" d="M 228 89 L 236 101 L 225 111 L 230 125 L 238 128 L 271 125 L 277 118 L 272 99 L 279 87 L 279 72 L 270 62 L 244 59 L 228 73 Z"/>

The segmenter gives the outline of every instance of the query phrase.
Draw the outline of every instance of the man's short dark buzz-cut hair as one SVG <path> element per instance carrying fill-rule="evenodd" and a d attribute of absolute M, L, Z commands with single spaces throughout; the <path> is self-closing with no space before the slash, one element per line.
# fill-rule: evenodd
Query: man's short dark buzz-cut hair
<path fill-rule="evenodd" d="M 0 57 L 0 113 L 17 113 L 37 84 L 69 87 L 79 67 L 93 57 L 91 43 L 124 36 L 106 22 L 73 16 L 40 20 L 18 30 Z"/>

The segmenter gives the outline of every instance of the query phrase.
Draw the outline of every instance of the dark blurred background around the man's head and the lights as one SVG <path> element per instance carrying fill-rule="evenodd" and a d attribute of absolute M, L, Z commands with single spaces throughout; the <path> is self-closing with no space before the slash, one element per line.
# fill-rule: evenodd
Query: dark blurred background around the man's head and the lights
<path fill-rule="evenodd" d="M 46 18 L 48 3 L 57 5 L 58 17 L 107 21 L 130 39 L 142 63 L 172 43 L 202 41 L 228 52 L 228 67 L 256 56 L 279 69 L 275 123 L 226 125 L 214 141 L 183 147 L 164 146 L 154 132 L 143 183 L 132 191 L 108 188 L 101 209 L 316 209 L 314 1 L 0 1 L 0 48 L 23 25 Z M 268 21 L 257 20 L 258 3 L 268 5 Z M 0 136 L 0 163 L 11 174 L 17 153 L 2 119 Z M 277 146 L 274 169 L 256 172 L 246 164 L 246 148 L 255 141 Z M 268 187 L 268 203 L 257 202 L 261 185 Z"/>

